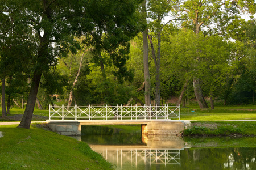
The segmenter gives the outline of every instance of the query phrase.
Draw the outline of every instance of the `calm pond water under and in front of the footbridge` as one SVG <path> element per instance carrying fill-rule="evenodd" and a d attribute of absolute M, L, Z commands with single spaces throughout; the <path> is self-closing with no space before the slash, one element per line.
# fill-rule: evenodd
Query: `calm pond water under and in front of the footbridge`
<path fill-rule="evenodd" d="M 97 131 L 94 126 L 88 131 Z M 115 169 L 256 169 L 256 138 L 142 136 L 101 127 L 81 136 Z"/>

